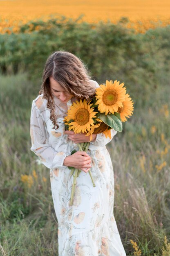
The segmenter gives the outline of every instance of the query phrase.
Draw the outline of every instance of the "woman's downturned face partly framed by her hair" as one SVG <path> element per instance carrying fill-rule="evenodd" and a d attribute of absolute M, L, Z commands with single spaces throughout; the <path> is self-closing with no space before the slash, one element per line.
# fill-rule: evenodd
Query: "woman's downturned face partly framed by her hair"
<path fill-rule="evenodd" d="M 72 94 L 67 93 L 61 85 L 54 80 L 52 77 L 49 78 L 50 81 L 50 88 L 52 94 L 58 98 L 61 102 L 66 103 L 73 97 Z"/>

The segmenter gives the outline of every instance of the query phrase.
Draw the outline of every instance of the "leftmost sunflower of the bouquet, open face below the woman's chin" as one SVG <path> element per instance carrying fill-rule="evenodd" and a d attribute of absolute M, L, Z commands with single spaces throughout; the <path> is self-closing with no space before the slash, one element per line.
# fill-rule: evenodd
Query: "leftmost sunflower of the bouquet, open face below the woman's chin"
<path fill-rule="evenodd" d="M 67 112 L 65 120 L 68 122 L 69 130 L 74 130 L 75 133 L 88 132 L 91 126 L 94 126 L 93 118 L 96 118 L 97 112 L 91 108 L 92 104 L 84 101 L 76 101 L 72 104 Z M 69 120 L 74 120 L 69 122 Z"/>

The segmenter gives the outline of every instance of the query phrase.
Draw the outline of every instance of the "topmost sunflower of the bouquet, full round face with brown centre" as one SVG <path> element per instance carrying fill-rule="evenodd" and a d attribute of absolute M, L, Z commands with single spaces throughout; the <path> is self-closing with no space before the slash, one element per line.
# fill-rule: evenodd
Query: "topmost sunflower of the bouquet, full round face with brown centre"
<path fill-rule="evenodd" d="M 106 85 L 101 84 L 96 89 L 96 105 L 101 113 L 114 114 L 119 107 L 123 107 L 122 102 L 125 100 L 126 93 L 126 88 L 123 85 L 124 83 L 119 84 L 117 80 L 114 80 L 114 83 L 112 80 L 110 82 L 106 80 Z"/>

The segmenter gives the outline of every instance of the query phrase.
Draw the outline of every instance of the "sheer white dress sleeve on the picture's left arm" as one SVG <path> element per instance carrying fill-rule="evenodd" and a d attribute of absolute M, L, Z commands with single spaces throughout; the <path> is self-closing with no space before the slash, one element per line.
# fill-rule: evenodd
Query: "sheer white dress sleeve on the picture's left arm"
<path fill-rule="evenodd" d="M 42 164 L 44 164 L 47 168 L 65 167 L 63 166 L 63 162 L 68 154 L 64 152 L 57 152 L 48 144 L 49 136 L 46 123 L 43 119 L 42 113 L 37 108 L 34 101 L 31 107 L 30 136 L 30 150 L 39 157 Z"/>

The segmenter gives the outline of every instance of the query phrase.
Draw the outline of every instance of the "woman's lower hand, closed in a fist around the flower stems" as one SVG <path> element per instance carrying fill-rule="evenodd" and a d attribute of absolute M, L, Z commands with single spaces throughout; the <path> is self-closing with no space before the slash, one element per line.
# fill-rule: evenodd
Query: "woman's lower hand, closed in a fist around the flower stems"
<path fill-rule="evenodd" d="M 85 151 L 77 151 L 65 157 L 63 165 L 72 166 L 87 173 L 91 166 L 91 157 Z"/>

